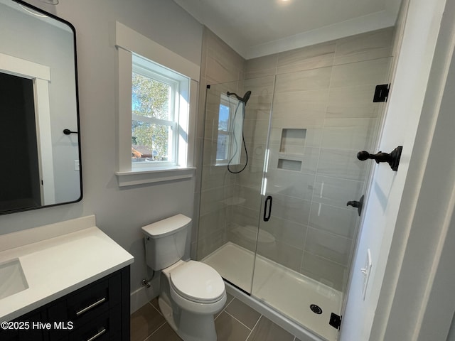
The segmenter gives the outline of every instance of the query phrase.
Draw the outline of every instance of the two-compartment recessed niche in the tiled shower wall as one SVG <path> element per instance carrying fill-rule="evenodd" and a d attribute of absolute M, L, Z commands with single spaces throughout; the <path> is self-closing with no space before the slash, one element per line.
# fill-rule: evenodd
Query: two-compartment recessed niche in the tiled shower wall
<path fill-rule="evenodd" d="M 306 139 L 306 129 L 283 128 L 279 145 L 279 153 L 303 155 Z M 290 158 L 278 158 L 277 168 L 287 171 L 301 170 L 301 161 Z"/>

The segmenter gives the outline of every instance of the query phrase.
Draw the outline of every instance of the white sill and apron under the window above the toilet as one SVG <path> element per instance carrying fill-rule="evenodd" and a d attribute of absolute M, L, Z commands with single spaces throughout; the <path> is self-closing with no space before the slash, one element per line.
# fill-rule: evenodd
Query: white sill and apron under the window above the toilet
<path fill-rule="evenodd" d="M 126 187 L 193 178 L 195 170 L 196 167 L 166 168 L 149 171 L 115 172 L 115 175 L 117 175 L 119 187 Z"/>

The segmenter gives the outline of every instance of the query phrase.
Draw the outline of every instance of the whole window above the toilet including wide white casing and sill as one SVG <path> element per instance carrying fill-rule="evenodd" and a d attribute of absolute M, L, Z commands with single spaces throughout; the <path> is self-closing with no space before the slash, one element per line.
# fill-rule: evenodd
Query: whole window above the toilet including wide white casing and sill
<path fill-rule="evenodd" d="M 117 22 L 119 186 L 191 178 L 200 67 Z"/>

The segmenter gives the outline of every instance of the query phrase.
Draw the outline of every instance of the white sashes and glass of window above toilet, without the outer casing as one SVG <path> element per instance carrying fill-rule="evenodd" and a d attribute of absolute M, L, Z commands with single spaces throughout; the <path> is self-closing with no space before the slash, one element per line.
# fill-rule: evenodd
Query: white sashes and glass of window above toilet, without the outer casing
<path fill-rule="evenodd" d="M 139 55 L 132 63 L 132 169 L 178 166 L 189 79 Z"/>

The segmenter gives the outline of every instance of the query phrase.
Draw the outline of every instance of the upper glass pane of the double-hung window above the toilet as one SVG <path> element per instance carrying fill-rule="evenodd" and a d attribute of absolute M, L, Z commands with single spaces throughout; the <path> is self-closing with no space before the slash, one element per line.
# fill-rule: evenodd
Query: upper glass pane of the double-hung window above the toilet
<path fill-rule="evenodd" d="M 171 114 L 171 86 L 133 72 L 132 112 L 156 119 L 173 119 Z"/>

